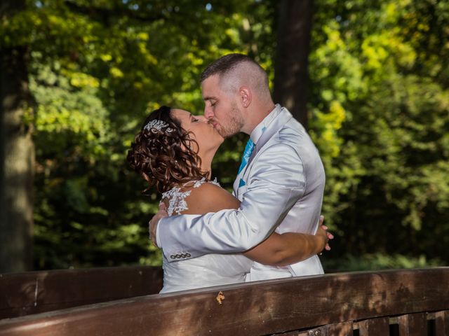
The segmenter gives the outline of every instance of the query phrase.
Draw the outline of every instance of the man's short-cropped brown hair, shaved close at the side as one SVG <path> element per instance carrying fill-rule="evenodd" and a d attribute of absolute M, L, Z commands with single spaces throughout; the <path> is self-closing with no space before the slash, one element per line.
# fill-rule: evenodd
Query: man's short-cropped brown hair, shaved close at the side
<path fill-rule="evenodd" d="M 203 81 L 210 76 L 217 75 L 220 78 L 223 78 L 227 74 L 234 73 L 233 70 L 236 68 L 243 70 L 239 71 L 237 76 L 242 78 L 249 75 L 254 80 L 254 87 L 257 87 L 263 94 L 269 94 L 268 76 L 265 70 L 248 55 L 239 53 L 228 54 L 219 59 L 215 59 L 215 61 L 206 66 L 206 69 L 201 73 L 200 83 L 203 83 Z"/>

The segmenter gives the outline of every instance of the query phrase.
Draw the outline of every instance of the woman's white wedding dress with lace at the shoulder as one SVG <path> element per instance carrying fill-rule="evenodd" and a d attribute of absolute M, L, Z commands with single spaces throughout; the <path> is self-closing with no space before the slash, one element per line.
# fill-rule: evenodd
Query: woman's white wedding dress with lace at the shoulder
<path fill-rule="evenodd" d="M 198 188 L 203 183 L 206 183 L 205 179 L 196 181 L 194 188 Z M 209 183 L 218 185 L 216 181 Z M 168 216 L 187 210 L 186 197 L 189 195 L 190 191 L 183 193 L 180 188 L 173 188 L 163 193 L 162 198 L 167 198 L 169 202 Z M 182 256 L 173 255 L 173 258 L 182 258 Z M 168 262 L 163 256 L 163 288 L 160 293 L 243 283 L 252 263 L 252 260 L 242 254 L 206 254 L 175 262 Z"/>

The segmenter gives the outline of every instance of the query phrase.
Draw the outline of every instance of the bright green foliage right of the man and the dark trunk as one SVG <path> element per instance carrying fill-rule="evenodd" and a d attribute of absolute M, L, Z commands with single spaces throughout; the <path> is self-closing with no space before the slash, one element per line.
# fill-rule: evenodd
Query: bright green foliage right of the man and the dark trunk
<path fill-rule="evenodd" d="M 310 124 L 336 260 L 448 261 L 448 15 L 443 1 L 317 3 Z"/>

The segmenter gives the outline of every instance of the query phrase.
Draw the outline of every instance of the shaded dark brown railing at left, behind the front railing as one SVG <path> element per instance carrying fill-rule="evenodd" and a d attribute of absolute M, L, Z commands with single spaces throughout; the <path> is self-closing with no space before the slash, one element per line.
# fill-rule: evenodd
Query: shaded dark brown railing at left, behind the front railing
<path fill-rule="evenodd" d="M 159 293 L 161 267 L 0 274 L 0 319 Z"/>

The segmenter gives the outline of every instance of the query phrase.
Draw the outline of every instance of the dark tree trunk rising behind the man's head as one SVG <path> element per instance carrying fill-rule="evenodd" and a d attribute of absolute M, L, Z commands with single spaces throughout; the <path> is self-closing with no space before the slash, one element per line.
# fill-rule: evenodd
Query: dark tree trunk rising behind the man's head
<path fill-rule="evenodd" d="M 281 0 L 274 100 L 307 127 L 307 71 L 313 0 Z"/>

